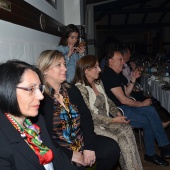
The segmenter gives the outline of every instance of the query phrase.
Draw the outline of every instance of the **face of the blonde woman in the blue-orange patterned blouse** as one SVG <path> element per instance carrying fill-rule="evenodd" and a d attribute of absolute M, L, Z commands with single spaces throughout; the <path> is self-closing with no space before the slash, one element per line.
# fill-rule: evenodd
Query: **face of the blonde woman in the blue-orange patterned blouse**
<path fill-rule="evenodd" d="M 66 80 L 66 71 L 66 62 L 62 57 L 54 61 L 45 71 L 46 81 L 51 85 L 63 83 Z"/>

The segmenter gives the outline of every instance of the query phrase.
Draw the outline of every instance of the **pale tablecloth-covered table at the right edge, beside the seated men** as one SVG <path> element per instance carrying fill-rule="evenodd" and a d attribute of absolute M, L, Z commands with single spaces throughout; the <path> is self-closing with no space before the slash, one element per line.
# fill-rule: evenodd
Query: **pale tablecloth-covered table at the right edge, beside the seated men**
<path fill-rule="evenodd" d="M 163 90 L 161 86 L 165 84 L 159 80 L 151 80 L 150 86 L 148 85 L 148 78 L 150 76 L 142 76 L 141 78 L 141 86 L 144 90 L 149 90 L 152 92 L 152 95 L 155 99 L 157 99 L 161 106 L 165 108 L 170 113 L 170 91 Z"/>

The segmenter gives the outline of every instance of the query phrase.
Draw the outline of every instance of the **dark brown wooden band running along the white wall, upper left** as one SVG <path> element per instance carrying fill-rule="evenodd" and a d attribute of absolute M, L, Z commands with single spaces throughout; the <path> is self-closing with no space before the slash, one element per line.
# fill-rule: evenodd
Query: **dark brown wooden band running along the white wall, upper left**
<path fill-rule="evenodd" d="M 11 11 L 0 8 L 1 20 L 61 36 L 64 25 L 60 22 L 23 0 L 8 0 L 8 2 L 11 3 Z"/>

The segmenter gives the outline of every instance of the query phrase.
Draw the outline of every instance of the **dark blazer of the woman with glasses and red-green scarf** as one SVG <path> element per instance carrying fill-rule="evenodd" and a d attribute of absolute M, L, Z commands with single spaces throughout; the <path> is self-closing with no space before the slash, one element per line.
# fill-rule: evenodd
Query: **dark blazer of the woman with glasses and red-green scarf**
<path fill-rule="evenodd" d="M 61 149 L 53 145 L 43 117 L 37 116 L 34 121 L 41 129 L 40 136 L 44 145 L 54 153 L 54 169 L 76 170 Z M 45 170 L 44 166 L 39 164 L 37 155 L 3 113 L 0 113 L 0 170 Z"/>

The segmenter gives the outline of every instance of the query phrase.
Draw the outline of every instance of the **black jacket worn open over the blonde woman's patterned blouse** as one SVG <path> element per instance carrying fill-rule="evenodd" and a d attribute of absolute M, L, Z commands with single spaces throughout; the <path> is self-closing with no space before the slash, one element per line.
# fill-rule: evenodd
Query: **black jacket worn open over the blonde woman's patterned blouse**
<path fill-rule="evenodd" d="M 94 139 L 96 137 L 96 134 L 94 133 L 93 120 L 92 120 L 90 110 L 86 106 L 83 97 L 81 96 L 81 93 L 77 89 L 77 87 L 71 85 L 70 88 L 66 88 L 66 89 L 68 92 L 70 102 L 77 107 L 78 114 L 80 114 L 80 128 L 83 132 L 83 139 L 84 139 L 83 149 L 94 151 L 94 147 L 95 147 Z M 54 112 L 53 106 L 54 106 L 54 99 L 52 99 L 49 95 L 44 94 L 44 100 L 41 101 L 41 105 L 40 105 L 40 113 L 42 113 L 45 118 L 47 130 L 49 131 L 51 137 L 53 132 L 53 112 Z M 56 145 L 58 145 L 58 143 L 56 143 Z M 64 147 L 62 148 L 71 160 L 73 151 Z"/>

